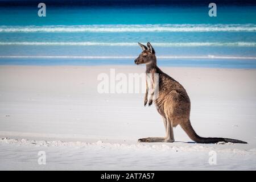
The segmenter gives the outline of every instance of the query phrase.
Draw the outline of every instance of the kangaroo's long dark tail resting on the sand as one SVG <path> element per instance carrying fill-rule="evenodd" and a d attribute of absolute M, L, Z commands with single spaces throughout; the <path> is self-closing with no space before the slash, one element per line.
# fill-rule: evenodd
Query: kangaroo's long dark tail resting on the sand
<path fill-rule="evenodd" d="M 241 140 L 231 139 L 231 138 L 217 138 L 217 137 L 200 137 L 196 134 L 193 129 L 190 120 L 186 123 L 181 124 L 182 129 L 187 133 L 188 137 L 191 138 L 196 143 L 217 143 L 217 142 L 232 142 L 232 143 L 247 143 Z"/>

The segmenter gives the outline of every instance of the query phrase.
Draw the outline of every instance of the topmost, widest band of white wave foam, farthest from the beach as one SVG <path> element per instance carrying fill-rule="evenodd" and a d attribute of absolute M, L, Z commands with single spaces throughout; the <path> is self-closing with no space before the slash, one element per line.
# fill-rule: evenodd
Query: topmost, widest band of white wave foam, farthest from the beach
<path fill-rule="evenodd" d="M 0 32 L 255 32 L 255 24 L 99 24 L 0 26 Z"/>

